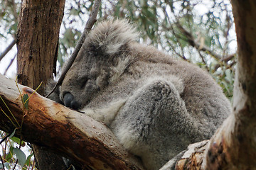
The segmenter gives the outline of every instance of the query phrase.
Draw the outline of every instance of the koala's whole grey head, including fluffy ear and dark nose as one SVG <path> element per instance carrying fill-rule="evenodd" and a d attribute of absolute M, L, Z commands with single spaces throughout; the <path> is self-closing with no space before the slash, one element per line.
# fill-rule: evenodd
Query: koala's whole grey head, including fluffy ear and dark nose
<path fill-rule="evenodd" d="M 65 106 L 82 108 L 116 81 L 132 60 L 128 48 L 136 37 L 127 21 L 106 21 L 92 30 L 60 86 Z"/>

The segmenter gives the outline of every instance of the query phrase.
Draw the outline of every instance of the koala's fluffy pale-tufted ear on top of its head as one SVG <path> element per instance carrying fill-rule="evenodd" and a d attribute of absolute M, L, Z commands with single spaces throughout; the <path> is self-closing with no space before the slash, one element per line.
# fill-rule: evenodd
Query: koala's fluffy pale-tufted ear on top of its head
<path fill-rule="evenodd" d="M 110 20 L 99 23 L 85 40 L 88 51 L 98 55 L 113 55 L 120 47 L 133 42 L 138 37 L 136 28 L 126 20 Z M 100 53 L 100 54 L 99 54 Z"/>

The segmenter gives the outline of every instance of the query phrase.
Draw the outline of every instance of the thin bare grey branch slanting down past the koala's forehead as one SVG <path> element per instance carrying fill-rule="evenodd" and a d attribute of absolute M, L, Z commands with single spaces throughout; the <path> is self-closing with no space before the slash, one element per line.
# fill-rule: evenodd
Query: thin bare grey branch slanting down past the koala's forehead
<path fill-rule="evenodd" d="M 53 87 L 53 90 L 50 91 L 50 93 L 48 95 L 46 95 L 46 98 L 48 96 L 50 96 L 50 94 L 53 93 L 53 91 L 55 91 L 55 89 L 60 86 L 60 84 L 62 84 L 63 79 L 65 77 L 65 74 L 67 74 L 68 70 L 70 69 L 70 67 L 72 66 L 73 62 L 75 61 L 75 57 L 77 57 L 78 52 L 80 50 L 80 48 L 82 47 L 83 42 L 85 42 L 85 38 L 87 36 L 87 34 L 90 32 L 90 30 L 92 29 L 92 26 L 95 24 L 95 22 L 97 21 L 97 13 L 99 11 L 100 8 L 100 4 L 101 1 L 97 0 L 95 1 L 95 4 L 93 6 L 92 9 L 92 13 L 90 13 L 90 17 L 85 25 L 85 29 L 82 32 L 82 35 L 80 37 L 80 40 L 78 40 L 78 44 L 75 46 L 75 50 L 73 51 L 70 60 L 68 61 L 68 64 L 66 65 L 66 67 L 64 68 L 63 72 L 60 75 L 60 79 L 58 79 L 58 82 L 55 84 L 55 86 Z"/>

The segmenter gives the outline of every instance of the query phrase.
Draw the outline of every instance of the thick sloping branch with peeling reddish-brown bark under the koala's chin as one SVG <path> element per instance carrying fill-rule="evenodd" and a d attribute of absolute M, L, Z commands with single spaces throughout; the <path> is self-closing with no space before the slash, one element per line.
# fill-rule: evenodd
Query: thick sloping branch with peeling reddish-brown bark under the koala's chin
<path fill-rule="evenodd" d="M 23 108 L 21 96 L 14 80 L 6 79 L 0 74 L 0 96 L 10 108 L 14 118 L 21 125 L 23 140 L 46 147 L 65 157 L 75 160 L 81 166 L 93 169 L 143 169 L 132 155 L 127 153 L 116 137 L 105 125 L 87 115 L 70 110 L 65 106 L 50 101 L 33 90 L 18 85 L 21 96 L 31 96 L 28 110 Z M 18 123 L 11 116 L 3 101 L 0 100 L 0 129 L 12 132 Z M 4 114 L 9 115 L 9 118 Z M 33 134 L 33 135 L 31 135 Z"/>

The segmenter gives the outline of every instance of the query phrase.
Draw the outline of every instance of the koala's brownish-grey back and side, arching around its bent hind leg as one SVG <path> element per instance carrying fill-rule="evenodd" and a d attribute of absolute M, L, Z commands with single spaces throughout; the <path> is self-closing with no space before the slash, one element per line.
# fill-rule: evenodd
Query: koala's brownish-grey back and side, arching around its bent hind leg
<path fill-rule="evenodd" d="M 136 57 L 105 91 L 98 94 L 87 107 L 106 106 L 118 98 L 128 98 L 151 79 L 170 79 L 186 104 L 189 114 L 201 125 L 205 138 L 213 135 L 231 111 L 230 101 L 210 74 L 196 65 L 176 60 L 154 47 L 137 42 L 129 44 L 127 57 Z"/>

